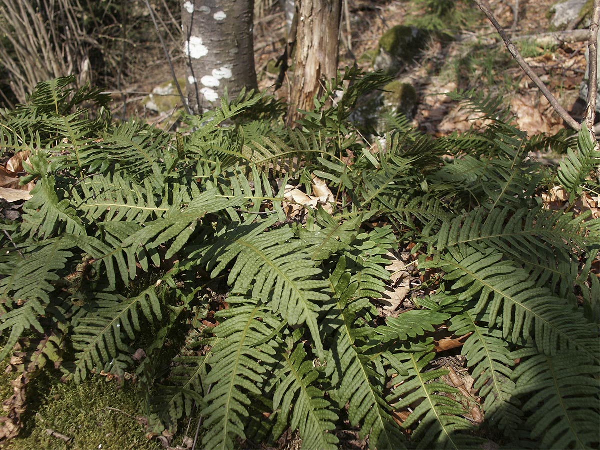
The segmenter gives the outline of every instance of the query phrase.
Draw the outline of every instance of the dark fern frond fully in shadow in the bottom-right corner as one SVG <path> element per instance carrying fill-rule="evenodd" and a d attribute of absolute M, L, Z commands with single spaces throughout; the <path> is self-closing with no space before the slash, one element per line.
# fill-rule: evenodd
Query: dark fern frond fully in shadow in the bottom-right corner
<path fill-rule="evenodd" d="M 526 427 L 538 448 L 598 448 L 598 365 L 578 352 L 548 356 L 526 348 L 510 357 L 521 358 L 512 395 L 523 398 Z"/>

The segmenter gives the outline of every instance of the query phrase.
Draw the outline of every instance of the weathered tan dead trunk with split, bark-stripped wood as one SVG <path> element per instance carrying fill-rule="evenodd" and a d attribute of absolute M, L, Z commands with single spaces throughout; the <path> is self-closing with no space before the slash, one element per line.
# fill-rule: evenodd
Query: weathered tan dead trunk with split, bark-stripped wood
<path fill-rule="evenodd" d="M 341 6 L 342 0 L 299 0 L 296 67 L 287 114 L 291 126 L 299 117 L 298 109 L 314 109 L 314 96 L 337 74 Z"/>

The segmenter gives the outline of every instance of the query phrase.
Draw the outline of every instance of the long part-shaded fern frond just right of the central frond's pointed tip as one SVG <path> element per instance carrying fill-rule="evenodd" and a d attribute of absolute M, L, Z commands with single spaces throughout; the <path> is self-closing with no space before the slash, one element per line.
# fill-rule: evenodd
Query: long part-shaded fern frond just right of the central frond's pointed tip
<path fill-rule="evenodd" d="M 332 398 L 340 407 L 348 405 L 350 424 L 359 427 L 359 436 L 369 437 L 370 448 L 404 448 L 402 430 L 385 400 L 388 364 L 378 354 L 379 340 L 370 338 L 372 330 L 356 325 L 359 312 L 368 307 L 368 299 L 355 298 L 358 283 L 352 282 L 351 272 L 346 271 L 345 257 L 341 257 L 330 280 L 337 307 L 329 314 L 339 317 L 329 321 L 329 326 L 335 328 L 328 337 L 328 341 L 334 341 L 332 383 L 337 386 Z"/>

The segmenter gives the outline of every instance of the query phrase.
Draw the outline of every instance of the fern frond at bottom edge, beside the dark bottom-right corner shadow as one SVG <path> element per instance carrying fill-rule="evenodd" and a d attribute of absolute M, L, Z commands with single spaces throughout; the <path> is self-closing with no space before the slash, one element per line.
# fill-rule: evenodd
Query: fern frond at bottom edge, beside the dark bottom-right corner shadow
<path fill-rule="evenodd" d="M 427 371 L 435 356 L 431 350 L 432 346 L 421 352 L 396 353 L 409 373 L 395 377 L 397 387 L 388 401 L 396 411 L 418 405 L 402 425 L 412 430 L 412 440 L 418 448 L 479 448 L 480 440 L 466 433 L 473 430 L 471 422 L 463 417 L 467 411 L 453 398 L 458 389 L 437 381 L 448 371 Z"/>

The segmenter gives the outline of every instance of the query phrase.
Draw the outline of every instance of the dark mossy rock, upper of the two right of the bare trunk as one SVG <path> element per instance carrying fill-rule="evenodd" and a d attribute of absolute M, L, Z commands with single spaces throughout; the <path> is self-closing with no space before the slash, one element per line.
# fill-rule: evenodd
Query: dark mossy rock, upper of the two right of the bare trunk
<path fill-rule="evenodd" d="M 414 26 L 394 26 L 380 38 L 373 68 L 392 76 L 397 74 L 415 61 L 429 37 L 428 31 Z"/>

